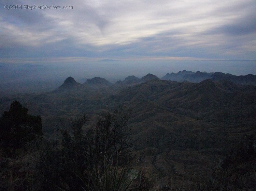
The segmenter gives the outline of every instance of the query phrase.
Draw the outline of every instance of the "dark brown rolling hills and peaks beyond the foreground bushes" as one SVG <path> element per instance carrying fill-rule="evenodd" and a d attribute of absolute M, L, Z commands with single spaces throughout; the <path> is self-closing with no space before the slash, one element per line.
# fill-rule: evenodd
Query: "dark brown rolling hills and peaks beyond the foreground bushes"
<path fill-rule="evenodd" d="M 58 129 L 70 130 L 70 119 L 84 113 L 85 130 L 105 112 L 131 111 L 132 163 L 150 182 L 146 190 L 255 190 L 253 85 L 217 78 L 176 82 L 152 74 L 116 84 L 100 77 L 80 84 L 68 77 L 52 92 L 1 97 L 1 114 L 13 100 L 42 117 L 47 140 L 60 140 Z"/>

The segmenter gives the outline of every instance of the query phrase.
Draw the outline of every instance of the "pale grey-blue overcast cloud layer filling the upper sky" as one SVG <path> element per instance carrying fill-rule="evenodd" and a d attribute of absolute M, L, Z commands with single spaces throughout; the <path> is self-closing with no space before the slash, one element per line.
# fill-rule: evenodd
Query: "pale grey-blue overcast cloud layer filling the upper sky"
<path fill-rule="evenodd" d="M 255 0 L 0 0 L 0 57 L 256 59 L 255 10 Z"/>

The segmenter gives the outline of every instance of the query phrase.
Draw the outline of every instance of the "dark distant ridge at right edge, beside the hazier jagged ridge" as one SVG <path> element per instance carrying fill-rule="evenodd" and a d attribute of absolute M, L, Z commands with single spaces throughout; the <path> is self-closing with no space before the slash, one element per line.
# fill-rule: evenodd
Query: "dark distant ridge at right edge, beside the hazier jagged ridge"
<path fill-rule="evenodd" d="M 256 75 L 253 74 L 247 74 L 247 75 L 232 75 L 232 74 L 225 74 L 222 72 L 215 72 L 212 75 L 213 81 L 219 81 L 219 80 L 228 80 L 231 82 L 234 82 L 236 84 L 242 84 L 242 85 L 256 85 Z"/>

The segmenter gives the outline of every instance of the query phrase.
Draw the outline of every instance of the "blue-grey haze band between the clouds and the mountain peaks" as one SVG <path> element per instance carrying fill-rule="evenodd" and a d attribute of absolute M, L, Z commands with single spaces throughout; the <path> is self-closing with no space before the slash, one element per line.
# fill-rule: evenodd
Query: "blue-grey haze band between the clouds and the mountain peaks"
<path fill-rule="evenodd" d="M 152 73 L 162 78 L 167 73 L 179 71 L 223 72 L 233 75 L 256 74 L 255 60 L 91 60 L 86 58 L 67 60 L 41 60 L 40 62 L 17 60 L 16 63 L 0 64 L 1 93 L 36 93 L 52 91 L 72 76 L 79 83 L 95 76 L 104 77 L 111 83 L 124 80 L 129 75 L 143 77 Z M 27 63 L 26 63 L 27 62 Z M 31 63 L 32 62 L 32 63 Z"/>

